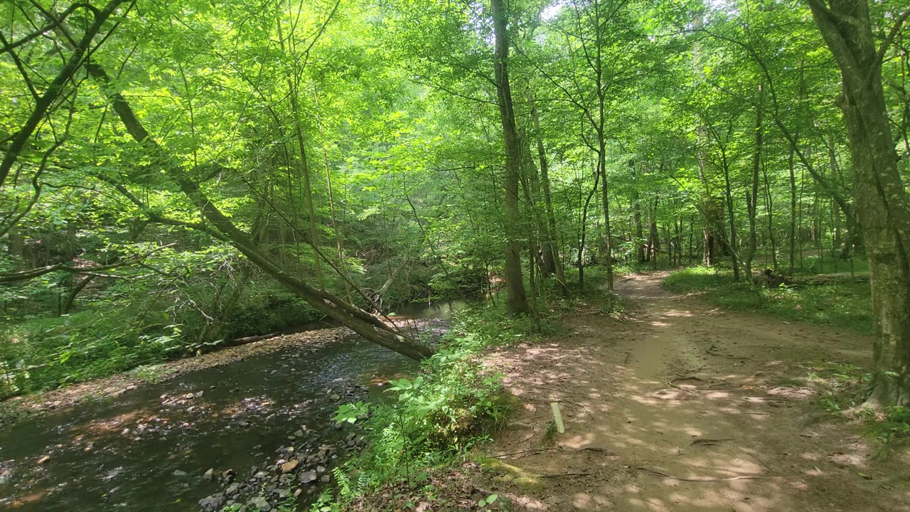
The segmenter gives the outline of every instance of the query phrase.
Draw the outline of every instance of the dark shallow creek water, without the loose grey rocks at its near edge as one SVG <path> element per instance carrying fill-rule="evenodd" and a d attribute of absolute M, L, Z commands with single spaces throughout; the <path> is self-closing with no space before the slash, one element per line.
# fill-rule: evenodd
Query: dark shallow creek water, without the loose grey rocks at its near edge
<path fill-rule="evenodd" d="M 397 318 L 440 333 L 464 306 L 411 305 L 399 308 Z M 12 475 L 0 483 L 0 510 L 198 510 L 197 500 L 219 490 L 203 480 L 207 469 L 246 472 L 298 430 L 316 442 L 344 435 L 330 416 L 353 395 L 346 390 L 381 399 L 377 384 L 417 369 L 410 359 L 351 335 L 40 416 L 0 431 L 0 474 Z"/>

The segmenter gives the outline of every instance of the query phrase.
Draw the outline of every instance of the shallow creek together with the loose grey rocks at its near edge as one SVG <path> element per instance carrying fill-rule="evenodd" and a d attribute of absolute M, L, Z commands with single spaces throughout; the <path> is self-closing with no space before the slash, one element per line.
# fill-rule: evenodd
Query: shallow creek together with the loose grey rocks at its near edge
<path fill-rule="evenodd" d="M 399 318 L 424 334 L 445 330 L 443 320 L 418 320 L 422 311 Z M 45 414 L 0 430 L 0 507 L 190 511 L 235 483 L 233 497 L 246 503 L 276 490 L 274 497 L 294 492 L 268 489 L 280 474 L 257 476 L 263 468 L 283 471 L 292 460 L 297 464 L 283 474 L 295 475 L 299 501 L 306 501 L 331 479 L 330 467 L 362 445 L 356 432 L 333 425 L 339 404 L 377 400 L 389 379 L 418 368 L 343 329 L 185 361 L 156 383 L 129 375 L 96 383 L 101 397 L 93 400 L 70 389 L 51 394 L 56 400 L 35 401 L 46 404 Z M 251 480 L 262 485 L 254 489 Z M 289 484 L 288 476 L 281 483 Z"/>

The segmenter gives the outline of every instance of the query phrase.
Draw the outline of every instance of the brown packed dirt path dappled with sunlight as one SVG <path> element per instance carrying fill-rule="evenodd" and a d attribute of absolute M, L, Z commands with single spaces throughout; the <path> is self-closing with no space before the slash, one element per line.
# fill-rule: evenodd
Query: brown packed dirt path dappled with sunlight
<path fill-rule="evenodd" d="M 871 341 L 725 312 L 618 279 L 622 320 L 595 308 L 571 336 L 491 359 L 521 411 L 489 448 L 481 488 L 519 510 L 809 512 L 910 510 L 910 469 L 825 413 L 800 364 L 866 364 Z M 565 434 L 553 434 L 559 402 Z"/>

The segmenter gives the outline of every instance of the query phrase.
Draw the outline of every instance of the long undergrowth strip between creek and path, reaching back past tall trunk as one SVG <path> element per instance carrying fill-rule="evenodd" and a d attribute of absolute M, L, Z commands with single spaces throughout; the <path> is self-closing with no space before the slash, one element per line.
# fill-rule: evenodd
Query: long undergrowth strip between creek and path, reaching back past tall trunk
<path fill-rule="evenodd" d="M 390 383 L 388 402 L 340 406 L 334 419 L 360 424 L 368 447 L 334 469 L 337 486 L 324 491 L 310 512 L 405 510 L 418 502 L 440 510 L 507 510 L 497 494 L 478 495 L 464 474 L 482 470 L 475 448 L 490 442 L 517 404 L 502 375 L 482 364 L 483 354 L 559 335 L 558 321 L 581 303 L 602 314 L 621 309 L 602 289 L 601 269 L 589 268 L 586 279 L 585 292 L 572 299 L 544 283 L 530 316 L 511 316 L 495 299 L 476 305 L 452 324 L 420 374 Z M 577 287 L 571 279 L 568 284 Z"/>

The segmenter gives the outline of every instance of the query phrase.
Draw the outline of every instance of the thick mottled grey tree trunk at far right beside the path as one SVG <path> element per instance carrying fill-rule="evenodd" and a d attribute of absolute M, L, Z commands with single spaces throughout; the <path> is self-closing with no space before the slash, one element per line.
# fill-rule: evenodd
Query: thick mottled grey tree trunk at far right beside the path
<path fill-rule="evenodd" d="M 843 81 L 838 105 L 850 140 L 855 209 L 872 282 L 875 368 L 869 402 L 910 404 L 910 209 L 881 74 L 887 46 L 910 11 L 876 49 L 866 0 L 809 0 L 809 6 Z"/>

